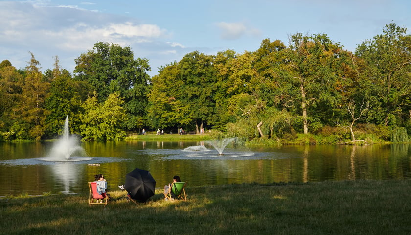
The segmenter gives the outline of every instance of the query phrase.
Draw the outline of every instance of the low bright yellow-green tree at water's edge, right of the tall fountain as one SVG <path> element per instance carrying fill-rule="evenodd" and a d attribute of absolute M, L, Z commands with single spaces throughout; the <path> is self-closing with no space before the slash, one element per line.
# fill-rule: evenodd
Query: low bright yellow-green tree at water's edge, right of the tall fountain
<path fill-rule="evenodd" d="M 110 94 L 103 103 L 98 103 L 95 96 L 87 99 L 80 115 L 80 133 L 86 141 L 118 141 L 123 140 L 126 132 L 122 124 L 126 114 L 122 108 L 124 101 L 117 93 Z"/>

